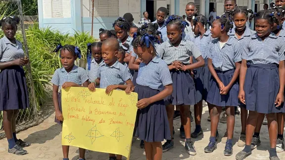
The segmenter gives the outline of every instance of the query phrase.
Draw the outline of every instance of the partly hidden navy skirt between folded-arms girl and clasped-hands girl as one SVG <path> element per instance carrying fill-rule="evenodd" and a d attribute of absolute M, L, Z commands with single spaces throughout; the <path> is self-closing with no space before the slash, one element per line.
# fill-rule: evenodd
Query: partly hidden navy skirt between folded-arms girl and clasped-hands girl
<path fill-rule="evenodd" d="M 194 82 L 196 89 L 196 102 L 202 99 L 207 101 L 208 91 L 210 88 L 211 72 L 208 68 L 208 59 L 204 59 L 205 66 L 194 69 Z M 195 60 L 193 60 L 195 62 Z"/>

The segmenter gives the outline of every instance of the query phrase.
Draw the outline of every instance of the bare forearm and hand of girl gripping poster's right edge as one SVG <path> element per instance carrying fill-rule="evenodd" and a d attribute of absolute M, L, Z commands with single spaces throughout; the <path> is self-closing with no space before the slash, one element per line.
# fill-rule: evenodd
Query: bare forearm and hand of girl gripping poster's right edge
<path fill-rule="evenodd" d="M 173 87 L 172 84 L 168 84 L 166 86 L 164 86 L 164 89 L 159 92 L 158 94 L 149 97 L 149 98 L 143 98 L 141 100 L 138 101 L 137 103 L 137 107 L 138 109 L 142 109 L 147 107 L 149 104 L 157 102 L 159 100 L 164 99 L 165 97 L 169 96 L 173 91 Z"/>

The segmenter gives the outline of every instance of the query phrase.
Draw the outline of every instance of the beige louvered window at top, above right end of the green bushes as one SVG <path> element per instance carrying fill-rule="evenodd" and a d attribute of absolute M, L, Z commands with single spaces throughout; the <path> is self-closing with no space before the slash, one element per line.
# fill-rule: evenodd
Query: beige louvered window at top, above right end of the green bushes
<path fill-rule="evenodd" d="M 92 0 L 90 0 L 92 3 Z M 92 5 L 91 12 L 92 12 Z M 94 0 L 94 16 L 95 17 L 118 17 L 119 16 L 119 0 Z"/>

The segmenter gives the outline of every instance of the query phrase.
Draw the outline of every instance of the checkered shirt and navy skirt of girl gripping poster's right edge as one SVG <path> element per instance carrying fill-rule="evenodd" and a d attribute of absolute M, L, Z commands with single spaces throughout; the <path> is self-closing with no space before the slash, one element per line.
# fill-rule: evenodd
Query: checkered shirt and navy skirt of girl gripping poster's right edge
<path fill-rule="evenodd" d="M 154 57 L 148 64 L 140 64 L 137 86 L 135 87 L 138 100 L 158 94 L 164 86 L 169 84 L 172 84 L 170 72 L 160 57 Z M 135 132 L 136 136 L 146 142 L 161 142 L 164 139 L 171 139 L 163 100 L 138 110 Z"/>

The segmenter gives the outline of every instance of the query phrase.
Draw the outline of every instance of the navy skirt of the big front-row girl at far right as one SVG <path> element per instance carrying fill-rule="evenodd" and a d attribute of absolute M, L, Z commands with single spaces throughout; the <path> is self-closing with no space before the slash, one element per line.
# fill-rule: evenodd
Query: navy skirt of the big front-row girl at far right
<path fill-rule="evenodd" d="M 279 88 L 277 64 L 248 64 L 244 81 L 246 110 L 263 114 L 283 112 L 283 106 L 276 108 L 274 104 Z"/>

